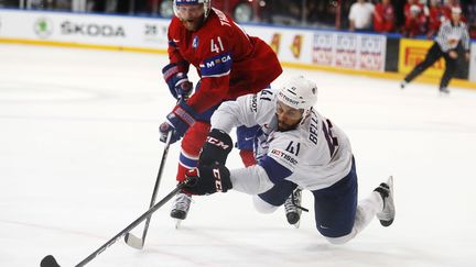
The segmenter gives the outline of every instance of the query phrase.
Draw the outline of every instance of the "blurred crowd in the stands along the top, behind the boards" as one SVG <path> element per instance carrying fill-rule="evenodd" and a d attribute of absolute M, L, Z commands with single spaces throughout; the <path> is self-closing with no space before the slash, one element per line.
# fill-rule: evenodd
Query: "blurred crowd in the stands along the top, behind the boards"
<path fill-rule="evenodd" d="M 76 0 L 78 1 L 78 0 Z M 119 14 L 159 14 L 161 3 L 170 0 L 83 0 L 86 12 Z M 225 3 L 239 0 L 212 0 Z M 72 10 L 75 0 L 31 0 L 26 8 Z M 348 29 L 378 33 L 400 33 L 405 37 L 432 38 L 441 23 L 451 19 L 451 9 L 463 10 L 469 35 L 476 38 L 476 0 L 261 0 L 261 7 L 253 22 L 286 25 L 304 25 L 317 29 Z M 0 8 L 19 7 L 19 0 L 0 0 Z M 228 7 L 227 4 L 225 4 Z M 234 7 L 235 7 L 234 5 Z M 165 5 L 164 5 L 165 7 Z M 170 9 L 172 5 L 166 5 Z M 172 15 L 173 11 L 166 12 Z M 228 13 L 232 13 L 228 10 Z M 166 15 L 165 15 L 166 18 Z"/>

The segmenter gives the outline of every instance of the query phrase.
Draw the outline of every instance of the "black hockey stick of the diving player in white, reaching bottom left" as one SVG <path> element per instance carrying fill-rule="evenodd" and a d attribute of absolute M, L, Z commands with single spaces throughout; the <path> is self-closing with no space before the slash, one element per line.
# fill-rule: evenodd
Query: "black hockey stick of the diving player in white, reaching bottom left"
<path fill-rule="evenodd" d="M 109 246 L 111 246 L 116 241 L 120 240 L 123 235 L 129 233 L 132 229 L 134 229 L 137 225 L 142 223 L 144 220 L 147 220 L 152 213 L 154 213 L 159 208 L 164 205 L 169 200 L 171 200 L 185 185 L 193 185 L 196 177 L 188 177 L 185 181 L 178 183 L 174 190 L 172 190 L 167 196 L 165 196 L 161 201 L 159 201 L 156 204 L 154 204 L 152 208 L 150 208 L 147 212 L 144 212 L 142 215 L 140 215 L 136 221 L 133 221 L 131 224 L 129 224 L 126 229 L 123 229 L 121 232 L 119 232 L 117 235 L 115 235 L 112 238 L 110 238 L 108 242 L 106 242 L 102 246 L 100 246 L 98 249 L 96 249 L 94 253 L 91 253 L 89 256 L 87 256 L 85 259 L 83 259 L 79 264 L 76 265 L 76 267 L 82 267 L 88 264 L 90 260 L 93 260 L 95 257 L 97 257 L 99 254 L 101 254 L 104 251 L 106 251 Z M 45 256 L 41 264 L 41 267 L 60 267 L 60 265 L 56 263 L 56 259 L 52 255 Z"/>

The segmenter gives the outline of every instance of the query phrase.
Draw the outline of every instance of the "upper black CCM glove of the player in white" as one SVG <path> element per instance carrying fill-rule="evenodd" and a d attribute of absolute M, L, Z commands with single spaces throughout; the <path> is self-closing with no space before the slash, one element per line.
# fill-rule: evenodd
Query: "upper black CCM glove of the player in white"
<path fill-rule="evenodd" d="M 221 130 L 213 129 L 202 147 L 198 166 L 225 165 L 231 148 L 231 137 Z"/>

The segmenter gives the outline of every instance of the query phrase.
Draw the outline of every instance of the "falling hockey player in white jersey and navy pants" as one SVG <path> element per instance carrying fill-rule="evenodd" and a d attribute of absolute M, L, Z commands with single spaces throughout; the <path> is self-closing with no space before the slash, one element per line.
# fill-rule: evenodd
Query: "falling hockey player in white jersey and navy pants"
<path fill-rule="evenodd" d="M 310 190 L 316 227 L 334 244 L 354 238 L 375 215 L 389 226 L 394 219 L 392 177 L 357 201 L 349 141 L 315 110 L 316 100 L 316 85 L 295 77 L 279 90 L 224 102 L 212 118 L 198 167 L 188 173 L 194 182 L 185 190 L 209 194 L 235 189 L 253 194 L 255 207 L 263 213 L 277 210 L 298 187 Z M 255 147 L 257 165 L 228 169 L 225 164 L 232 147 L 228 133 L 256 124 L 261 126 Z"/>

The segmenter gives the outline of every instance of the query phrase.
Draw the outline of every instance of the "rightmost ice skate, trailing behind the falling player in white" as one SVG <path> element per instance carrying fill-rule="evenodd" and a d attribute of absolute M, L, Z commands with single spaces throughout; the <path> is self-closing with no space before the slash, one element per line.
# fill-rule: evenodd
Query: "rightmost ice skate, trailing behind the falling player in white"
<path fill-rule="evenodd" d="M 387 182 L 380 183 L 374 191 L 380 193 L 383 201 L 383 209 L 377 212 L 377 219 L 383 226 L 390 226 L 393 223 L 396 209 L 393 202 L 393 177 L 390 176 Z"/>

